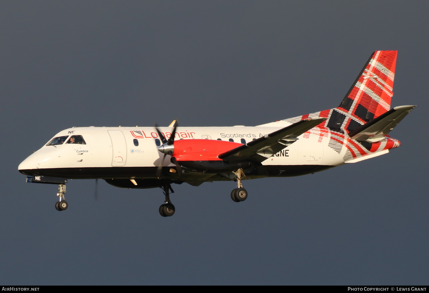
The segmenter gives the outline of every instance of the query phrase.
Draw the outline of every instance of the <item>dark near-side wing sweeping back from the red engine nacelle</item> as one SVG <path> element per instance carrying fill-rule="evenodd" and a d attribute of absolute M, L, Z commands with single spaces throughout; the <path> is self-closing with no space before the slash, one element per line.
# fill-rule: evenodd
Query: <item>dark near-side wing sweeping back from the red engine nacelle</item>
<path fill-rule="evenodd" d="M 224 152 L 218 155 L 218 157 L 225 161 L 265 161 L 267 158 L 297 141 L 299 135 L 302 135 L 325 120 L 326 118 L 323 117 L 313 117 L 298 121 L 269 135 Z"/>

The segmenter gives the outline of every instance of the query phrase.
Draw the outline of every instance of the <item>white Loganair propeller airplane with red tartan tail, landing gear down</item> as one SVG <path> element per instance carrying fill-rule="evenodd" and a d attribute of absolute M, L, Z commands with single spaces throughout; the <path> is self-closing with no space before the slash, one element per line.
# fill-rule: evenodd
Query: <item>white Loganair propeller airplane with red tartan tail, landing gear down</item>
<path fill-rule="evenodd" d="M 171 184 L 289 177 L 355 163 L 399 147 L 389 132 L 415 107 L 390 109 L 397 51 L 375 51 L 337 108 L 246 127 L 73 127 L 57 133 L 19 166 L 27 182 L 57 184 L 57 210 L 67 179 L 104 179 L 121 188 L 163 189 L 160 215 L 175 212 Z M 96 181 L 97 182 L 97 181 Z"/>

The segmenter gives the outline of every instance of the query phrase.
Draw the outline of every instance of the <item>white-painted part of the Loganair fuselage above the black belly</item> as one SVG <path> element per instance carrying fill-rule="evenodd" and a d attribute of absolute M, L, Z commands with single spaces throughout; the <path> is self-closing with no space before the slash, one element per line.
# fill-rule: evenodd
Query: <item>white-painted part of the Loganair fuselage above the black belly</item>
<path fill-rule="evenodd" d="M 168 139 L 171 128 L 161 127 Z M 221 139 L 249 142 L 278 130 L 278 127 L 178 127 L 175 139 Z M 314 128 L 299 136 L 299 140 L 263 165 L 324 165 L 344 164 L 343 152 L 328 147 L 329 131 Z M 55 137 L 82 135 L 86 144 L 43 146 L 18 167 L 19 170 L 58 168 L 156 167 L 163 154 L 157 150 L 158 135 L 152 127 L 76 127 L 65 129 Z M 138 142 L 138 145 L 136 146 Z M 345 148 L 344 148 L 345 149 Z M 169 157 L 163 166 L 174 166 Z"/>

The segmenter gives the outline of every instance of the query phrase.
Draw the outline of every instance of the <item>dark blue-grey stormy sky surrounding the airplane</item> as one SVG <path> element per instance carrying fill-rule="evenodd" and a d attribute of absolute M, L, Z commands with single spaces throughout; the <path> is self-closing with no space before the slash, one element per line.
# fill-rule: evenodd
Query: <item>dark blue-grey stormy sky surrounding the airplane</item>
<path fill-rule="evenodd" d="M 426 1 L 1 1 L 0 283 L 428 284 Z M 338 106 L 398 50 L 402 146 L 313 175 L 160 189 L 27 184 L 72 126 L 254 126 Z"/>

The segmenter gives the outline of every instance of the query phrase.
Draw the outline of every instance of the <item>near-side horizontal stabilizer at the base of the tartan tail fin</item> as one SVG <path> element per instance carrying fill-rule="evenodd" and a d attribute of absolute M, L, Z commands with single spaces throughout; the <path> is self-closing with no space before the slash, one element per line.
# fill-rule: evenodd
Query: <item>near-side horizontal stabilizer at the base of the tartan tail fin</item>
<path fill-rule="evenodd" d="M 416 106 L 395 107 L 353 130 L 349 133 L 349 136 L 356 141 L 368 141 L 371 143 L 381 141 L 414 107 Z"/>

